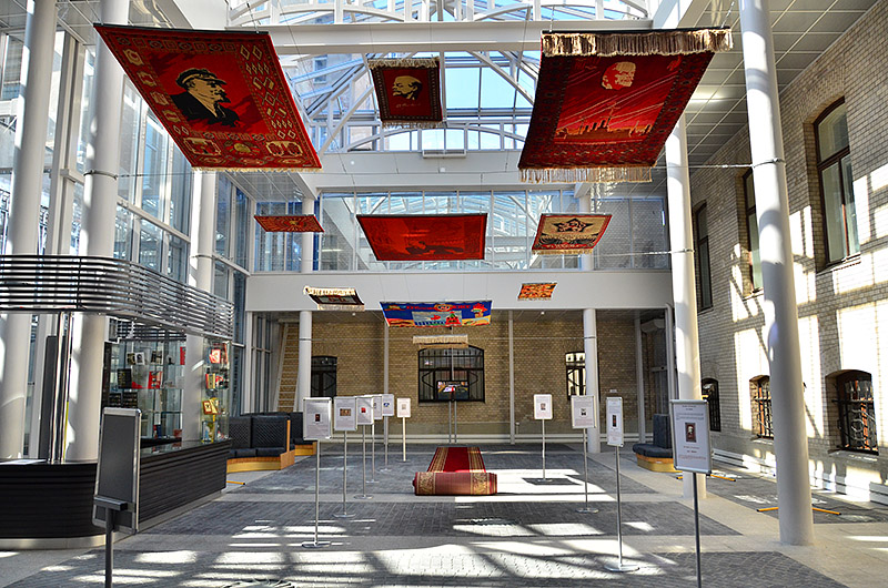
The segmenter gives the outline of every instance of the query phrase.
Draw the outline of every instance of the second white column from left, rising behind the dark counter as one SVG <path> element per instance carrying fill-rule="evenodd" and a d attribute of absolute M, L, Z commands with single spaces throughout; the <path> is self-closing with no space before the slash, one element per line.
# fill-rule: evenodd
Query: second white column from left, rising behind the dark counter
<path fill-rule="evenodd" d="M 101 21 L 127 24 L 128 0 L 102 0 Z M 83 184 L 83 224 L 80 253 L 111 256 L 114 251 L 118 172 L 120 171 L 120 115 L 123 70 L 99 40 L 87 142 L 87 179 Z M 108 321 L 82 315 L 74 322 L 68 407 L 65 459 L 91 460 L 99 454 L 99 418 L 102 402 L 102 362 Z"/>

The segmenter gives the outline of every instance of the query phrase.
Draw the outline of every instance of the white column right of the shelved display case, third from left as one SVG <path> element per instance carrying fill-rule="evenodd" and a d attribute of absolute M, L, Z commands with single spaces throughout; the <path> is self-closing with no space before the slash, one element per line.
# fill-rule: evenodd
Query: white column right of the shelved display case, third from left
<path fill-rule="evenodd" d="M 191 186 L 191 256 L 188 283 L 212 293 L 213 249 L 215 245 L 215 172 L 194 172 Z M 185 337 L 185 387 L 182 391 L 182 440 L 198 440 L 203 433 L 201 401 L 205 368 L 204 341 L 200 335 Z"/>

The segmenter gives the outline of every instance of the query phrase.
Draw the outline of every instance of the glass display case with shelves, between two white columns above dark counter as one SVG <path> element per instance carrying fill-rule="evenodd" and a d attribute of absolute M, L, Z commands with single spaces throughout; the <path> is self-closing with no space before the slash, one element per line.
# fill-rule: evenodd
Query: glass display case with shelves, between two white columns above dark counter
<path fill-rule="evenodd" d="M 182 437 L 184 342 L 123 341 L 111 345 L 105 406 L 142 410 L 143 439 Z"/>

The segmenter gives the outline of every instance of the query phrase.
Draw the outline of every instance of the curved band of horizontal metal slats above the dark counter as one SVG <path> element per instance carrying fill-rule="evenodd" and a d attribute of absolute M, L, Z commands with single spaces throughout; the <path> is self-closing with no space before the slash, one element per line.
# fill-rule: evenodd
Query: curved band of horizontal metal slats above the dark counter
<path fill-rule="evenodd" d="M 125 260 L 0 255 L 0 312 L 107 314 L 232 338 L 234 305 Z"/>

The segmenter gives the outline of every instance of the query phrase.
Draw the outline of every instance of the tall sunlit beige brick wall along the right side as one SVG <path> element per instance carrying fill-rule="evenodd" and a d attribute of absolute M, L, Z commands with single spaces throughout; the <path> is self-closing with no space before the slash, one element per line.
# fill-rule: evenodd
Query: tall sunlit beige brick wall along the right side
<path fill-rule="evenodd" d="M 837 413 L 828 376 L 840 369 L 872 375 L 879 445 L 888 433 L 888 1 L 879 2 L 780 94 L 781 123 L 796 274 L 806 422 L 816 467 L 881 481 L 885 457 L 862 462 L 834 453 Z M 859 258 L 825 263 L 820 195 L 813 123 L 844 98 L 860 232 Z M 741 131 L 710 164 L 748 164 L 748 133 Z M 749 379 L 768 374 L 761 294 L 751 294 L 746 265 L 744 169 L 699 169 L 692 176 L 693 206 L 706 203 L 709 217 L 714 306 L 699 313 L 703 377 L 719 382 L 722 424 L 716 447 L 749 455 L 773 453 L 751 440 Z M 776 396 L 780 391 L 771 391 Z M 862 472 L 862 474 L 860 473 Z M 867 474 L 868 473 L 868 474 Z"/>

